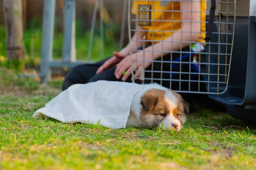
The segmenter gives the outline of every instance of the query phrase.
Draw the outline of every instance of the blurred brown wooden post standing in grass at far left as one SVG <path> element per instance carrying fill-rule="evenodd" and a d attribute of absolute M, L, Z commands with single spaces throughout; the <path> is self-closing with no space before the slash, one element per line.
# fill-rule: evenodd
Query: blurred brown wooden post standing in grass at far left
<path fill-rule="evenodd" d="M 9 60 L 23 59 L 22 0 L 3 0 L 3 9 L 7 58 Z M 15 64 L 15 67 L 17 66 L 19 65 Z"/>

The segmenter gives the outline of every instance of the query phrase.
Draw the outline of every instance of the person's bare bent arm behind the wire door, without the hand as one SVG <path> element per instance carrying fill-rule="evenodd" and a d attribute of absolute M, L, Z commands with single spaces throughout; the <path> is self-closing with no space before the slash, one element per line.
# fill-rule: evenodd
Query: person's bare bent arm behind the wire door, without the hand
<path fill-rule="evenodd" d="M 155 60 L 160 58 L 162 55 L 162 52 L 156 51 L 178 51 L 181 50 L 180 48 L 184 48 L 190 44 L 187 42 L 195 42 L 196 40 L 198 40 L 201 29 L 200 2 L 198 2 L 197 0 L 193 1 L 196 2 L 180 2 L 180 7 L 182 11 L 193 12 L 182 12 L 181 28 L 177 32 L 172 34 L 172 36 L 166 38 L 163 42 L 159 42 L 151 45 L 148 48 L 145 48 L 145 55 L 152 55 L 152 50 L 154 48 L 153 57 Z M 166 54 L 168 54 L 168 52 L 163 52 L 163 56 Z"/>

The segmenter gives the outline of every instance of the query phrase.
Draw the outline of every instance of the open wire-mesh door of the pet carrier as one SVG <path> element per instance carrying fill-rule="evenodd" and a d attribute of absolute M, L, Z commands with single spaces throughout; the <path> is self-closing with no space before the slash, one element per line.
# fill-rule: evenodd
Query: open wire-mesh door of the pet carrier
<path fill-rule="evenodd" d="M 191 8 L 183 9 L 185 3 L 191 3 Z M 200 11 L 193 11 L 195 5 L 200 6 Z M 236 3 L 216 1 L 212 38 L 205 41 L 211 5 L 208 0 L 129 0 L 129 40 L 138 47 L 131 49 L 131 54 L 136 56 L 131 58 L 133 82 L 157 82 L 177 92 L 223 94 L 228 85 Z M 200 21 L 193 19 L 196 13 L 200 13 Z M 131 19 L 132 14 L 137 17 Z M 188 14 L 190 20 L 183 19 Z M 131 28 L 132 23 L 136 23 L 136 28 Z M 190 24 L 190 30 L 182 27 L 185 23 Z M 200 31 L 193 28 L 193 23 L 200 23 Z M 134 34 L 137 31 L 141 33 L 139 36 Z M 195 40 L 192 33 L 197 33 L 199 38 Z M 133 34 L 137 37 L 132 37 Z M 164 47 L 162 42 L 169 47 Z M 177 44 L 179 49 L 173 49 Z M 139 62 L 143 62 L 142 69 L 137 67 Z M 147 62 L 151 65 L 145 68 Z M 136 71 L 140 71 L 139 78 L 134 77 Z"/>

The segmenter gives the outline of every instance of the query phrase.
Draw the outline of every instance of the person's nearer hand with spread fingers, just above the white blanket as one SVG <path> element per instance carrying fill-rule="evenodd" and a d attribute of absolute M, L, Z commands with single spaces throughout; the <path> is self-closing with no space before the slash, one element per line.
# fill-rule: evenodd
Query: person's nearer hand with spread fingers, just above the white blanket
<path fill-rule="evenodd" d="M 147 57 L 146 57 L 147 56 Z M 145 60 L 152 60 L 149 59 L 151 55 L 145 55 Z M 138 52 L 137 57 L 136 53 L 132 54 L 131 56 L 128 55 L 124 59 L 122 59 L 121 62 L 119 62 L 116 65 L 116 70 L 115 70 L 115 76 L 117 79 L 119 79 L 122 74 L 126 71 L 125 75 L 122 77 L 122 81 L 126 81 L 126 79 L 131 75 L 131 58 L 132 58 L 132 65 L 133 65 L 133 70 L 138 70 L 134 74 L 134 78 L 140 77 L 140 73 L 143 70 L 143 52 Z M 138 61 L 140 60 L 140 61 Z M 137 65 L 136 65 L 137 62 Z M 148 68 L 148 66 L 151 65 L 151 62 L 144 62 L 144 69 Z M 137 66 L 137 68 L 136 68 Z"/>

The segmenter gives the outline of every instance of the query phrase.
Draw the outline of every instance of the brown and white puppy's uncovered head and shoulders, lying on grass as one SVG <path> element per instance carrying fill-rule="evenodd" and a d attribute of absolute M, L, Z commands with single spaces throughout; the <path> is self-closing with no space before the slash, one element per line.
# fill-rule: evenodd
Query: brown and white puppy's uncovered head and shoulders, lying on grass
<path fill-rule="evenodd" d="M 186 122 L 189 105 L 180 94 L 157 83 L 135 94 L 126 127 L 163 127 L 179 131 Z"/>

